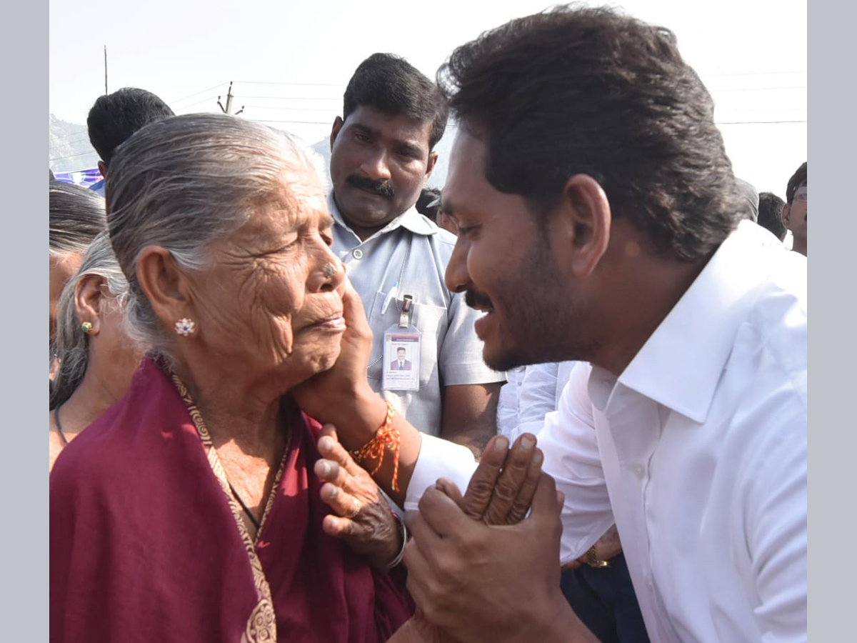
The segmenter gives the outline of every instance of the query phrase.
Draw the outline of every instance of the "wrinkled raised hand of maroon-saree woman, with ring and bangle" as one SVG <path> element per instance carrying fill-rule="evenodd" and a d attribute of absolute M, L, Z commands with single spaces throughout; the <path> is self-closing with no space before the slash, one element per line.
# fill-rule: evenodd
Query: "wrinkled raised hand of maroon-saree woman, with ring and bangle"
<path fill-rule="evenodd" d="M 366 556 L 373 567 L 387 569 L 403 546 L 403 533 L 387 500 L 339 443 L 332 425 L 321 430 L 318 449 L 321 460 L 315 462 L 314 471 L 325 481 L 321 500 L 334 512 L 325 516 L 322 528 Z"/>

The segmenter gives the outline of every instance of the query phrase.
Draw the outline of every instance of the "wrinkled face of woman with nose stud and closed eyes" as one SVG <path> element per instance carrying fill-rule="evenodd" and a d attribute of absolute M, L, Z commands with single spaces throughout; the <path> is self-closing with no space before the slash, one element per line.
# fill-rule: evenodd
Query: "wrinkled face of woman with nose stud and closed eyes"
<path fill-rule="evenodd" d="M 213 243 L 194 297 L 201 338 L 225 370 L 274 376 L 287 389 L 339 357 L 345 272 L 321 184 L 309 173 L 286 179 L 278 198 Z"/>

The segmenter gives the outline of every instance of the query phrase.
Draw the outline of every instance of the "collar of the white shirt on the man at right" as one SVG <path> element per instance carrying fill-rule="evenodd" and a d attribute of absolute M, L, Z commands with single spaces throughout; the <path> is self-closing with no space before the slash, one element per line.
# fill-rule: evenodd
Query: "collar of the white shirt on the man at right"
<path fill-rule="evenodd" d="M 769 274 L 774 237 L 743 220 L 618 378 L 620 384 L 704 422 L 734 345 Z"/>

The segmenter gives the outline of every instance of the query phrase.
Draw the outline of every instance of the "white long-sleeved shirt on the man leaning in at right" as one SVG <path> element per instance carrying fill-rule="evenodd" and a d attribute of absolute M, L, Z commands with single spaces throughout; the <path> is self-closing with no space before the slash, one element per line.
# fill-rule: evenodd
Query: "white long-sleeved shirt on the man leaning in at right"
<path fill-rule="evenodd" d="M 742 222 L 618 378 L 572 371 L 538 442 L 561 562 L 615 520 L 651 640 L 806 641 L 805 257 Z M 464 451 L 424 436 L 405 507 L 464 489 Z"/>

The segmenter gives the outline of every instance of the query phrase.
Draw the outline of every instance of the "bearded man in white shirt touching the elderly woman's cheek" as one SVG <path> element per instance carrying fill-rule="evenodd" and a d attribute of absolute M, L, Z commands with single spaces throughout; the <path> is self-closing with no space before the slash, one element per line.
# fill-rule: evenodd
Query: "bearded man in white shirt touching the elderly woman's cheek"
<path fill-rule="evenodd" d="M 393 499 L 419 508 L 405 551 L 417 605 L 461 641 L 591 641 L 557 559 L 615 522 L 651 640 L 806 641 L 806 259 L 741 221 L 710 94 L 673 34 L 558 8 L 459 47 L 439 78 L 461 123 L 441 197 L 458 225 L 446 283 L 486 313 L 485 361 L 590 364 L 541 450 L 524 435 L 506 460 L 543 457 L 562 492 L 542 480 L 512 526 L 472 520 L 435 486 L 464 490 L 472 457 L 385 422 L 350 352 L 326 379 L 350 401 L 302 399 L 347 448 L 398 430 L 395 463 L 362 464 L 387 490 L 395 471 Z M 498 448 L 505 437 L 486 458 Z M 495 495 L 520 497 L 501 483 Z"/>

